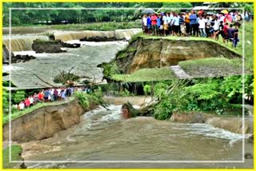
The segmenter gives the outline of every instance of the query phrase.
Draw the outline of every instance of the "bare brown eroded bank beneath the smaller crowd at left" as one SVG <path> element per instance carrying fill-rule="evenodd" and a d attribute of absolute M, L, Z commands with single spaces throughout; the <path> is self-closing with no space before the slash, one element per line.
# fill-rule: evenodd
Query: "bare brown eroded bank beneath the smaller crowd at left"
<path fill-rule="evenodd" d="M 90 104 L 88 110 L 95 108 L 96 105 Z M 24 142 L 52 137 L 54 133 L 78 124 L 86 110 L 79 105 L 78 100 L 36 109 L 11 121 L 11 140 Z M 3 141 L 8 139 L 9 123 L 3 125 Z"/>

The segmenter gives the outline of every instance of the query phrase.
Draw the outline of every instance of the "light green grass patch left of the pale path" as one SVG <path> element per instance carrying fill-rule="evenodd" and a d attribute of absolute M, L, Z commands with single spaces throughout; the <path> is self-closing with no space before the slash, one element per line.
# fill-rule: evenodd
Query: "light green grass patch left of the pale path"
<path fill-rule="evenodd" d="M 114 74 L 112 78 L 120 82 L 153 82 L 176 79 L 170 67 L 146 68 L 137 70 L 133 74 Z"/>

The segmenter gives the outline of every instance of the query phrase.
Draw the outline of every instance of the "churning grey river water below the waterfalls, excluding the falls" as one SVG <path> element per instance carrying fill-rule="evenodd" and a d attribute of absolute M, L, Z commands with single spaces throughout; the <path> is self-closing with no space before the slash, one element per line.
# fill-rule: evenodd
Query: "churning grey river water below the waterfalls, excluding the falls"
<path fill-rule="evenodd" d="M 34 51 L 14 52 L 14 54 L 30 54 L 36 59 L 29 62 L 14 63 L 3 65 L 3 72 L 10 72 L 11 81 L 19 89 L 43 87 L 45 85 L 33 74 L 37 74 L 46 82 L 54 84 L 54 77 L 62 70 L 70 70 L 72 73 L 82 77 L 90 78 L 93 82 L 102 81 L 102 69 L 98 64 L 110 62 L 118 50 L 122 50 L 127 42 L 81 42 L 82 46 L 78 49 L 66 48 L 66 53 L 60 54 L 35 54 Z M 8 80 L 9 76 L 4 79 Z M 49 85 L 48 85 L 49 86 Z"/>

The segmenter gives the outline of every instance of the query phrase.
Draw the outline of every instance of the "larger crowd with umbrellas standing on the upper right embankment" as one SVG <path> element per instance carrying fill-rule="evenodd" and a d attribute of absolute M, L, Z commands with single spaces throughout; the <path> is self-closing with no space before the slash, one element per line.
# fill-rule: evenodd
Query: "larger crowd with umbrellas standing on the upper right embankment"
<path fill-rule="evenodd" d="M 197 36 L 214 38 L 218 40 L 222 36 L 224 43 L 233 42 L 233 47 L 238 46 L 238 28 L 241 26 L 242 18 L 250 20 L 250 14 L 242 16 L 238 11 L 228 11 L 218 14 L 206 13 L 199 10 L 186 11 L 185 13 L 153 13 L 142 16 L 142 28 L 145 34 L 158 36 Z"/>

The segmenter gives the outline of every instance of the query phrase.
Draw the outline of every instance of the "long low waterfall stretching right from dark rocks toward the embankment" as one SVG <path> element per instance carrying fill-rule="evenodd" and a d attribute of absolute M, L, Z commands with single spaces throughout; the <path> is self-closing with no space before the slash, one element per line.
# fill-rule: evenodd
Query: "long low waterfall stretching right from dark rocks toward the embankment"
<path fill-rule="evenodd" d="M 114 30 L 114 31 L 56 31 L 54 37 L 57 40 L 63 42 L 70 40 L 79 40 L 81 38 L 91 38 L 95 36 L 106 37 L 106 38 L 126 38 L 130 39 L 134 34 L 140 33 L 141 29 L 130 29 L 130 30 Z"/>

